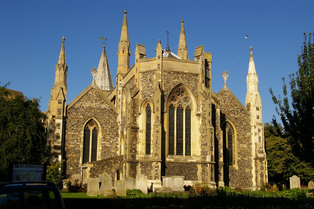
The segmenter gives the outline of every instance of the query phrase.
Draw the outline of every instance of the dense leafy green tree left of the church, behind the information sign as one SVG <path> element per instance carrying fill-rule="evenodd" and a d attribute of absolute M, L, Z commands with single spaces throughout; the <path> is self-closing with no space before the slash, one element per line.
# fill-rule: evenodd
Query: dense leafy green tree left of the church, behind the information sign
<path fill-rule="evenodd" d="M 9 83 L 8 83 L 9 84 Z M 0 85 L 0 173 L 8 176 L 10 162 L 41 163 L 46 144 L 39 100 L 10 98 Z"/>

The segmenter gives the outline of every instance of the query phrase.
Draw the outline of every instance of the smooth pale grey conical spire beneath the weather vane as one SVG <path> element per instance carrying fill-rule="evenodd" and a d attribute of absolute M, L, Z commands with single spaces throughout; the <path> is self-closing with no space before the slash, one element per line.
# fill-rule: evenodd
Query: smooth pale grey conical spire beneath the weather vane
<path fill-rule="evenodd" d="M 101 90 L 112 91 L 113 83 L 112 83 L 112 78 L 111 78 L 111 73 L 110 73 L 105 46 L 100 56 L 97 71 L 98 73 L 96 74 L 96 77 L 95 77 L 95 84 L 98 85 L 98 87 Z"/>

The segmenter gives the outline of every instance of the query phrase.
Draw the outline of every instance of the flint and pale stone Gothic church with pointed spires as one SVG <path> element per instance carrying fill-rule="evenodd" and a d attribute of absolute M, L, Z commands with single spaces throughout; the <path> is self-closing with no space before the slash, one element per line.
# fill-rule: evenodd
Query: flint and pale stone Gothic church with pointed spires
<path fill-rule="evenodd" d="M 163 176 L 184 176 L 190 185 L 259 189 L 268 177 L 252 47 L 243 106 L 227 87 L 226 72 L 223 88 L 212 90 L 210 52 L 198 46 L 188 58 L 183 19 L 176 54 L 156 43 L 152 58 L 136 44 L 130 66 L 124 11 L 115 87 L 104 46 L 92 83 L 68 102 L 63 36 L 45 154 L 54 162 L 66 160 L 65 178 L 82 174 L 84 182 L 106 172 L 112 181 L 144 174 L 154 190 L 162 187 Z"/>

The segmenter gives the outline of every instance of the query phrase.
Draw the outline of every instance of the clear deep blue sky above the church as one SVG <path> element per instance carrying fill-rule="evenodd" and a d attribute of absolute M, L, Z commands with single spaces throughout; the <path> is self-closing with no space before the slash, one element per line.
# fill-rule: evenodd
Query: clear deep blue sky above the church
<path fill-rule="evenodd" d="M 183 18 L 189 58 L 200 45 L 212 52 L 212 89 L 219 92 L 224 85 L 221 74 L 227 71 L 227 85 L 243 105 L 252 46 L 265 123 L 276 115 L 269 87 L 282 95 L 281 78 L 289 81 L 288 75 L 298 70 L 303 32 L 314 32 L 313 8 L 312 0 L 0 0 L 0 85 L 10 81 L 10 89 L 41 97 L 41 110 L 46 111 L 62 36 L 66 38 L 67 103 L 92 82 L 90 70 L 97 68 L 102 52 L 99 36 L 109 39 L 106 52 L 115 85 L 126 9 L 132 54 L 140 43 L 146 46 L 147 58 L 154 57 L 158 39 L 163 48 L 167 46 L 167 30 L 170 49 L 176 53 Z"/>

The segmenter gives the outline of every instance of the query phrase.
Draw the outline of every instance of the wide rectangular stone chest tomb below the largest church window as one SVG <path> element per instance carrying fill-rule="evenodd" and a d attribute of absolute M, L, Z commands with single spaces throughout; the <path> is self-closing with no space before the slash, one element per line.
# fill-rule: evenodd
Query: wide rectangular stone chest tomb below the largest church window
<path fill-rule="evenodd" d="M 184 176 L 162 176 L 162 191 L 184 192 Z"/>

